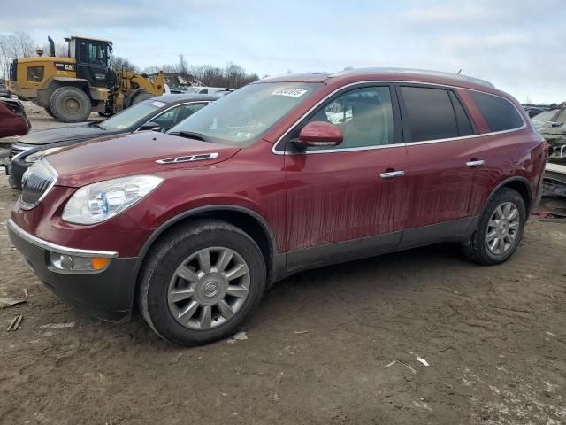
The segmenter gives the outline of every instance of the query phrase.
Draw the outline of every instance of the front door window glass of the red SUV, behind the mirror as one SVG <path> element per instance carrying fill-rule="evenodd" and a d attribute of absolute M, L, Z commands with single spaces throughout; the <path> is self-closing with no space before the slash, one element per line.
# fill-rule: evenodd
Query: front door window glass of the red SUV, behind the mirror
<path fill-rule="evenodd" d="M 304 124 L 312 121 L 330 122 L 342 130 L 344 142 L 330 149 L 394 143 L 393 105 L 389 87 L 365 87 L 348 91 L 325 104 Z M 329 148 L 308 148 L 309 151 L 319 149 Z"/>

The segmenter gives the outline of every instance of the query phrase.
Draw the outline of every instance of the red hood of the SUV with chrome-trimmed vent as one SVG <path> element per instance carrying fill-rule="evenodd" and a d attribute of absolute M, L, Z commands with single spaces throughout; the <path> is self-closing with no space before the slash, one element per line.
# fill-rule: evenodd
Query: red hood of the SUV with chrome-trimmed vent
<path fill-rule="evenodd" d="M 225 161 L 241 148 L 176 135 L 142 132 L 105 137 L 70 146 L 46 158 L 57 170 L 57 185 L 81 187 L 134 174 L 163 174 Z M 157 163 L 157 160 L 215 153 L 210 159 Z"/>

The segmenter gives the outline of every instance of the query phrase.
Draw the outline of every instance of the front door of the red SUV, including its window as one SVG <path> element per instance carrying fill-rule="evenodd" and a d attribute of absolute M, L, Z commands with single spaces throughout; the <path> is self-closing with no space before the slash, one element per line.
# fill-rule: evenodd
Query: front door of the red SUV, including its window
<path fill-rule="evenodd" d="M 333 148 L 296 151 L 310 121 L 341 128 Z M 364 85 L 331 97 L 287 135 L 287 268 L 391 251 L 407 214 L 408 158 L 393 86 Z"/>

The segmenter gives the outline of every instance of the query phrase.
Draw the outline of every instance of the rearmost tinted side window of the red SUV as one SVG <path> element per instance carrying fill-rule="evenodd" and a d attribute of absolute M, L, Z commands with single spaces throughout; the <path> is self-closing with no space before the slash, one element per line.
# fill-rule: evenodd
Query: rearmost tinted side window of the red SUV
<path fill-rule="evenodd" d="M 470 91 L 470 97 L 484 116 L 490 131 L 523 127 L 523 118 L 509 100 L 478 91 Z"/>

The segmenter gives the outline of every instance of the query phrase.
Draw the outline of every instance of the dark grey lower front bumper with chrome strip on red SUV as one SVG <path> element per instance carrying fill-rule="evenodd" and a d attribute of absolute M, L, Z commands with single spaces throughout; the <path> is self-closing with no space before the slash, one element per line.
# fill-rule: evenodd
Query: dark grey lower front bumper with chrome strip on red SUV
<path fill-rule="evenodd" d="M 127 321 L 132 311 L 137 258 L 115 258 L 110 251 L 85 251 L 43 241 L 8 220 L 11 243 L 35 274 L 57 297 L 105 321 Z M 50 252 L 114 257 L 101 272 L 79 274 L 53 271 Z"/>

